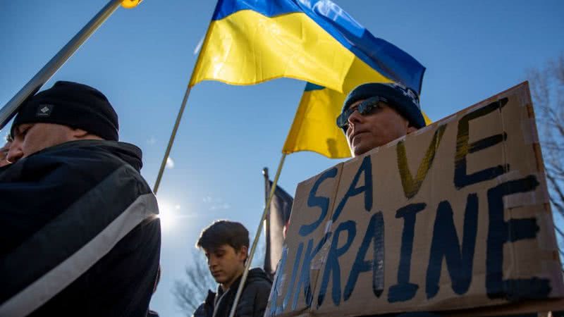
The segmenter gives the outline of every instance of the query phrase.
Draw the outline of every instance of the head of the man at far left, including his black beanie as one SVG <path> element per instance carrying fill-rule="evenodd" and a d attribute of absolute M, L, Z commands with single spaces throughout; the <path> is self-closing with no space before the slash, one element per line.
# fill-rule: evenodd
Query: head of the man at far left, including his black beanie
<path fill-rule="evenodd" d="M 56 82 L 18 111 L 6 159 L 15 162 L 41 149 L 78 139 L 118 141 L 118 126 L 118 115 L 102 92 L 76 82 Z"/>

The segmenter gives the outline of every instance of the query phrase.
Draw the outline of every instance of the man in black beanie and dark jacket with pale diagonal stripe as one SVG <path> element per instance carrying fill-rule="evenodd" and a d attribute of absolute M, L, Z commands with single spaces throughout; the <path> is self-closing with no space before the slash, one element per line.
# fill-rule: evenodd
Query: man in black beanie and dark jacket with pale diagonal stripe
<path fill-rule="evenodd" d="M 0 168 L 0 316 L 146 316 L 160 253 L 141 150 L 97 89 L 20 107 Z"/>

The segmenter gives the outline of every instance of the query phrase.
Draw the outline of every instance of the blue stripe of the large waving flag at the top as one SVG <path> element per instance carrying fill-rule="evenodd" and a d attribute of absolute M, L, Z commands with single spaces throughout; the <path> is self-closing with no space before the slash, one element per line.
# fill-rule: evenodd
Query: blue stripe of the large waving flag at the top
<path fill-rule="evenodd" d="M 329 0 L 219 0 L 212 20 L 241 10 L 268 17 L 303 12 L 381 75 L 421 92 L 425 68 L 397 46 L 374 37 Z"/>

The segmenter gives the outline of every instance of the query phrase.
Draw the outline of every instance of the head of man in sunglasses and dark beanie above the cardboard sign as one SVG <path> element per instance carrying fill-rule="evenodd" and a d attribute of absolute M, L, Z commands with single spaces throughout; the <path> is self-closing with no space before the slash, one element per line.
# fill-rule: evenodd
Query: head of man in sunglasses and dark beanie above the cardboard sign
<path fill-rule="evenodd" d="M 348 94 L 337 126 L 345 132 L 354 157 L 423 128 L 425 120 L 412 89 L 367 83 Z"/>

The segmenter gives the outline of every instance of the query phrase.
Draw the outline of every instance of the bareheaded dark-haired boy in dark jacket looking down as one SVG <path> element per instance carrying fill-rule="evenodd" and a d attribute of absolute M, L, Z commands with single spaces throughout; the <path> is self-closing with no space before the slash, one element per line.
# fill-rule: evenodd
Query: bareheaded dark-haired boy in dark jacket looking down
<path fill-rule="evenodd" d="M 217 293 L 208 292 L 205 302 L 196 309 L 194 316 L 229 316 L 241 275 L 245 271 L 249 232 L 240 223 L 217 220 L 202 230 L 196 247 L 204 251 L 209 272 L 219 286 Z M 263 316 L 271 286 L 272 281 L 261 268 L 252 268 L 247 275 L 235 316 Z"/>

